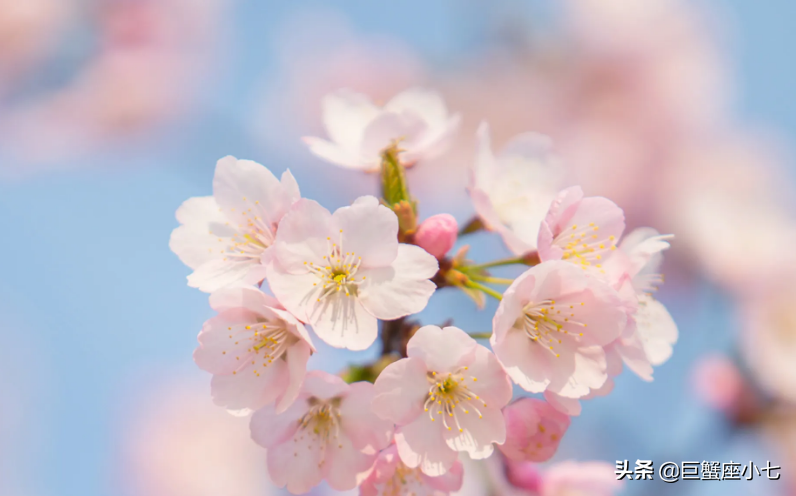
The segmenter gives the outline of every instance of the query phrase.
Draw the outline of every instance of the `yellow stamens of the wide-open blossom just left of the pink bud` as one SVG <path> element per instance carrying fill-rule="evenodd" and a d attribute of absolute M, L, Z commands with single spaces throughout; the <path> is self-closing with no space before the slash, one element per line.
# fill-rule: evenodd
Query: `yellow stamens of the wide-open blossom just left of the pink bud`
<path fill-rule="evenodd" d="M 362 264 L 362 257 L 358 257 L 354 252 L 343 250 L 343 230 L 340 229 L 340 239 L 338 243 L 332 243 L 332 238 L 326 238 L 327 255 L 322 258 L 324 265 L 316 265 L 312 262 L 304 262 L 309 267 L 319 281 L 313 286 L 321 285 L 321 294 L 318 301 L 330 296 L 341 294 L 345 296 L 357 296 L 359 285 L 365 280 L 365 276 L 356 277 L 357 271 Z"/>

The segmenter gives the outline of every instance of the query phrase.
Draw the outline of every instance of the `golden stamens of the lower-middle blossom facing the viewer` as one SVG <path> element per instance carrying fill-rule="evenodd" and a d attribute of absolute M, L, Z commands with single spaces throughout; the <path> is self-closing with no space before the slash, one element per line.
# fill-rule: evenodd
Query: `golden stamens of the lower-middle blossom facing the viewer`
<path fill-rule="evenodd" d="M 452 429 L 453 424 L 459 432 L 463 432 L 457 415 L 469 414 L 471 409 L 478 414 L 479 419 L 483 418 L 478 407 L 486 407 L 486 403 L 465 384 L 468 378 L 473 382 L 478 379 L 467 374 L 467 371 L 467 367 L 461 367 L 455 372 L 449 372 L 444 378 L 437 377 L 436 372 L 429 372 L 426 376 L 430 386 L 424 405 L 425 411 L 432 422 L 436 421 L 435 411 L 437 415 L 441 415 L 442 423 L 448 430 Z"/>

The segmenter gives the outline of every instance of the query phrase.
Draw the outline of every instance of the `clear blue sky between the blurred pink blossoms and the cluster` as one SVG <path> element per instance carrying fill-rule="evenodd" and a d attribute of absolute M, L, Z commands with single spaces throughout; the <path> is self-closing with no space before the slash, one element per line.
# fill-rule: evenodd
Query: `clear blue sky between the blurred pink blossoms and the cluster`
<path fill-rule="evenodd" d="M 358 30 L 400 37 L 427 60 L 444 64 L 485 42 L 487 21 L 503 4 L 524 3 L 241 2 L 229 21 L 235 28 L 230 70 L 190 122 L 89 157 L 80 167 L 0 183 L 0 401 L 11 418 L 0 417 L 7 426 L 0 430 L 0 493 L 118 494 L 112 477 L 118 469 L 116 419 L 130 388 L 162 379 L 149 370 L 203 374 L 191 352 L 211 312 L 206 295 L 186 287 L 188 271 L 169 251 L 168 238 L 179 204 L 210 193 L 218 158 L 252 158 L 275 173 L 289 166 L 303 195 L 330 209 L 375 193 L 363 182 L 356 191 L 328 189 L 309 154 L 289 164 L 276 161 L 246 127 L 255 81 L 268 81 L 277 67 L 271 34 L 291 11 L 299 4 L 334 6 Z M 543 2 L 528 5 L 541 19 L 547 15 Z M 731 21 L 737 114 L 796 143 L 796 4 L 728 0 L 722 7 Z M 483 258 L 502 250 L 484 237 L 475 244 Z M 765 447 L 743 433 L 731 436 L 689 396 L 693 359 L 730 346 L 736 323 L 726 312 L 728 302 L 707 285 L 662 299 L 680 326 L 674 357 L 654 383 L 625 374 L 609 398 L 589 403 L 559 458 L 764 462 L 770 456 Z M 490 309 L 477 312 L 461 295 L 441 292 L 423 316 L 434 322 L 455 312 L 457 321 L 486 328 Z M 652 486 L 639 484 L 630 484 L 627 494 L 652 494 Z M 777 494 L 774 486 L 749 484 L 681 482 L 655 490 Z"/>

